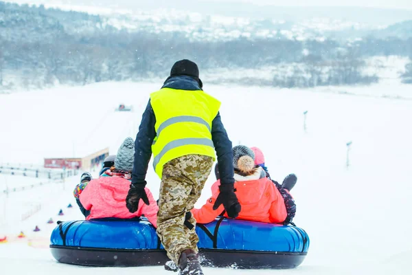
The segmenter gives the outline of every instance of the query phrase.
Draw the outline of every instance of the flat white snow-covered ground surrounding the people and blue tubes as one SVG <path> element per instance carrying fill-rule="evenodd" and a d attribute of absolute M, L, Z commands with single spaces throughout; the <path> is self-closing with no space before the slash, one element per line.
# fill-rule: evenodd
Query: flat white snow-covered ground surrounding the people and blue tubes
<path fill-rule="evenodd" d="M 125 137 L 135 137 L 148 95 L 160 86 L 160 82 L 100 83 L 0 95 L 0 115 L 7 118 L 2 121 L 0 163 L 41 164 L 43 157 L 83 155 L 106 146 L 116 153 Z M 205 84 L 205 91 L 222 101 L 222 122 L 233 144 L 262 148 L 277 181 L 288 173 L 297 174 L 292 192 L 297 202 L 295 222 L 311 241 L 306 260 L 295 270 L 206 268 L 205 274 L 412 273 L 412 132 L 408 126 L 412 100 L 351 95 L 371 94 L 372 89 L 380 94 L 411 91 L 396 83 L 345 88 L 347 94 Z M 132 104 L 134 112 L 115 112 L 120 103 Z M 304 111 L 308 111 L 306 131 Z M 3 180 L 0 176 L 0 184 Z M 50 217 L 81 219 L 71 195 L 77 181 L 78 176 L 7 198 L 0 193 L 0 234 L 12 239 L 0 244 L 2 272 L 171 274 L 163 267 L 56 263 L 47 249 L 56 224 L 46 222 Z M 197 206 L 209 197 L 213 182 L 211 175 Z M 151 168 L 148 187 L 157 197 L 159 179 Z M 67 208 L 68 203 L 74 207 Z M 41 210 L 21 221 L 23 210 L 38 204 Z M 57 216 L 60 209 L 65 216 Z M 41 232 L 32 231 L 36 225 Z M 21 230 L 31 242 L 13 240 Z"/>

